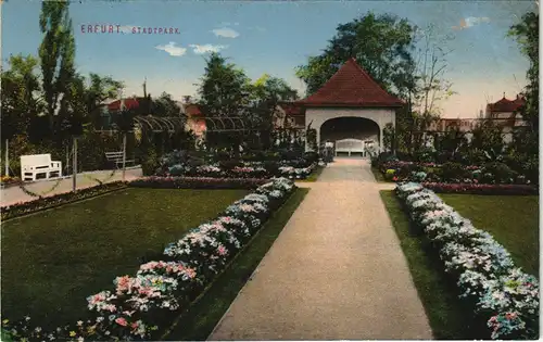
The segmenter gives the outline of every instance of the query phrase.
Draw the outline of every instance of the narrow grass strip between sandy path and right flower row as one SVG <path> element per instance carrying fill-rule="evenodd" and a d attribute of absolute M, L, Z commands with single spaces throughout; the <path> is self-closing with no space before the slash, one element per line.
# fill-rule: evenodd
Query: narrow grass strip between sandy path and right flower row
<path fill-rule="evenodd" d="M 433 337 L 440 340 L 473 339 L 468 335 L 466 327 L 469 326 L 469 318 L 456 296 L 455 284 L 446 278 L 439 257 L 431 252 L 425 237 L 409 232 L 407 215 L 394 192 L 387 190 L 380 193 L 407 258 Z"/>

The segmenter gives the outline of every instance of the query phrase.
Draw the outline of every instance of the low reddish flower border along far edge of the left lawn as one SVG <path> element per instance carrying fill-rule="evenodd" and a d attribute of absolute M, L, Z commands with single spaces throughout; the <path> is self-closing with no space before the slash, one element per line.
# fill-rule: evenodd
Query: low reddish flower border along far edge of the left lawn
<path fill-rule="evenodd" d="M 267 182 L 258 178 L 142 177 L 128 183 L 135 188 L 161 189 L 255 189 Z"/>

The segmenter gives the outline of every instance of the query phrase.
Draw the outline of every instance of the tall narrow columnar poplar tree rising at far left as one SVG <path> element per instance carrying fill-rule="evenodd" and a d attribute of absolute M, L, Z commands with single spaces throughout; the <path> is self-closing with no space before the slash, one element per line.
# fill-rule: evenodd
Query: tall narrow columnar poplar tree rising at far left
<path fill-rule="evenodd" d="M 42 73 L 46 115 L 49 128 L 53 132 L 58 113 L 66 112 L 64 96 L 75 78 L 75 39 L 72 30 L 72 20 L 68 13 L 68 1 L 43 1 L 39 16 L 40 30 L 43 40 L 39 47 L 39 59 Z M 53 135 L 54 137 L 54 135 Z"/>

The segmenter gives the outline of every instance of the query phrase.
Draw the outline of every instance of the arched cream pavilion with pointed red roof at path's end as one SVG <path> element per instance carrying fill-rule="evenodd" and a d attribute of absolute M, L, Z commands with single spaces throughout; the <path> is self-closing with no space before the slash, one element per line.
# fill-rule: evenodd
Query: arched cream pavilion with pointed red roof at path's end
<path fill-rule="evenodd" d="M 316 129 L 317 145 L 325 141 L 336 151 L 362 153 L 367 145 L 383 150 L 383 129 L 395 127 L 395 113 L 403 102 L 383 90 L 354 59 L 315 93 L 294 102 L 305 111 L 305 127 Z"/>

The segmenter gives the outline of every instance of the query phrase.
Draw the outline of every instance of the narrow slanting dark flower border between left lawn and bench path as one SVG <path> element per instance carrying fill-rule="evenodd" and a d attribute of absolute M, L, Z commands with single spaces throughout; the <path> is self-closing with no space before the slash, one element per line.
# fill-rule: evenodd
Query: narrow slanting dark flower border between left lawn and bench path
<path fill-rule="evenodd" d="M 11 205 L 2 206 L 0 210 L 2 212 L 2 220 L 18 217 L 31 213 L 36 213 L 39 211 L 48 210 L 51 207 L 55 207 L 59 205 L 63 205 L 66 203 L 72 203 L 75 201 L 80 201 L 85 199 L 89 199 L 99 194 L 103 194 L 110 191 L 118 190 L 126 188 L 126 182 L 124 181 L 114 181 L 104 185 L 99 185 L 96 187 L 85 188 L 77 190 L 77 192 L 64 192 L 54 195 L 50 195 L 47 198 L 38 198 L 36 200 L 24 202 L 24 203 L 15 203 Z"/>

